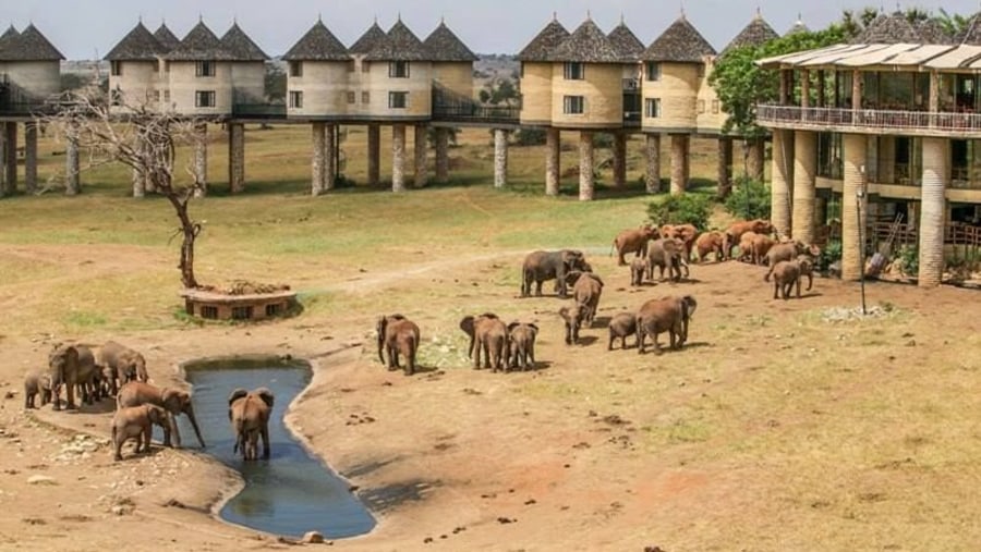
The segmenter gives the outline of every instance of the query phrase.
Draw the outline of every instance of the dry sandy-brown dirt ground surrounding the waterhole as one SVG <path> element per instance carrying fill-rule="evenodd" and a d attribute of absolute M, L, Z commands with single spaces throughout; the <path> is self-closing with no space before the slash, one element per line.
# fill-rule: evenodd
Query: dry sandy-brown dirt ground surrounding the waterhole
<path fill-rule="evenodd" d="M 43 256 L 61 268 L 50 278 L 2 287 L 5 312 L 29 307 L 75 275 L 136 270 L 134 258 L 172 263 L 138 247 L 2 246 L 0 255 Z M 607 284 L 601 320 L 646 298 L 690 293 L 699 299 L 689 346 L 640 356 L 607 352 L 606 330 L 598 326 L 583 331 L 584 344 L 565 345 L 554 314 L 559 299 L 516 298 L 521 257 L 491 252 L 434 258 L 411 271 L 354 273 L 335 284 L 338 293 L 404 310 L 420 323 L 428 366 L 412 378 L 386 371 L 375 358 L 372 328 L 380 312 L 374 309 L 112 338 L 144 351 L 158 382 L 174 380 L 180 363 L 201 357 L 310 359 L 315 377 L 290 406 L 289 422 L 358 492 L 397 496 L 375 503 L 372 533 L 335 541 L 338 549 L 923 550 L 940 543 L 954 550 L 966 542 L 948 548 L 943 540 L 918 541 L 916 523 L 891 519 L 911 515 L 897 505 L 909 494 L 940 492 L 970 502 L 971 486 L 941 473 L 901 471 L 904 462 L 918 458 L 901 450 L 881 452 L 900 467 L 873 473 L 864 465 L 872 459 L 848 456 L 839 445 L 891 445 L 862 443 L 861 426 L 837 419 L 835 409 L 851 408 L 880 384 L 923 385 L 918 373 L 932 364 L 977 369 L 977 338 L 947 346 L 952 326 L 958 334 L 978 335 L 978 317 L 965 316 L 967 308 L 976 310 L 970 305 L 977 305 L 977 292 L 872 284 L 869 305 L 889 312 L 870 322 L 835 322 L 826 312 L 857 306 L 857 284 L 818 279 L 806 298 L 774 302 L 762 282 L 765 269 L 708 263 L 693 267 L 694 282 L 634 290 L 625 268 L 595 252 L 591 262 Z M 494 285 L 508 274 L 513 285 Z M 419 304 L 398 304 L 404 289 L 420 286 L 432 292 Z M 456 321 L 477 309 L 537 320 L 541 368 L 508 375 L 471 369 Z M 105 444 L 107 407 L 25 413 L 23 372 L 43 366 L 51 341 L 68 336 L 24 323 L 0 328 L 0 393 L 7 395 L 0 394 L 0 549 L 291 548 L 211 515 L 239 479 L 195 451 L 157 447 L 114 463 Z M 110 336 L 74 338 L 99 343 Z M 813 358 L 824 360 L 807 364 L 807 373 L 792 371 L 797 360 Z M 365 417 L 375 421 L 349 424 Z M 839 426 L 853 433 L 822 430 L 834 433 Z M 897 439 L 912 433 L 905 426 L 897 431 Z M 770 450 L 759 449 L 762 436 Z M 929 450 L 930 438 L 922 439 L 907 446 Z M 820 444 L 809 447 L 808 440 Z M 862 465 L 843 466 L 849 458 Z M 898 513 L 883 510 L 891 504 Z M 977 543 L 977 514 L 978 506 L 968 505 L 962 519 L 924 523 Z M 812 530 L 800 529 L 808 525 Z M 826 540 L 811 540 L 818 535 Z"/>

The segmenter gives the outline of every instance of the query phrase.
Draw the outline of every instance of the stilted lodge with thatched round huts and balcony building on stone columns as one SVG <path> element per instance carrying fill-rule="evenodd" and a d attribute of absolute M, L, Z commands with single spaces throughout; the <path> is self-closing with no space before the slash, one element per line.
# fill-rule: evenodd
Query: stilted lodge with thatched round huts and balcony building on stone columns
<path fill-rule="evenodd" d="M 920 283 L 940 282 L 947 224 L 977 224 L 981 217 L 978 21 L 965 36 L 946 37 L 935 25 L 915 27 L 901 14 L 881 14 L 853 44 L 759 62 L 780 75 L 779 101 L 759 106 L 758 118 L 773 133 L 773 219 L 782 235 L 810 242 L 819 225 L 840 218 L 843 277 L 857 279 L 859 212 L 901 214 L 920 226 Z M 788 33 L 806 29 L 798 22 Z M 310 125 L 315 196 L 335 185 L 341 126 L 366 127 L 372 185 L 380 180 L 382 130 L 391 128 L 393 192 L 429 180 L 429 128 L 435 179 L 446 182 L 449 130 L 480 126 L 494 131 L 495 186 L 507 183 L 509 134 L 545 131 L 544 192 L 557 195 L 561 133 L 578 133 L 579 197 L 590 200 L 596 133 L 613 136 L 615 186 L 626 185 L 631 135 L 644 139 L 650 193 L 661 191 L 663 164 L 669 165 L 670 192 L 685 192 L 692 137 L 716 140 L 720 191 L 730 186 L 734 140 L 746 148 L 748 173 L 761 179 L 765 142 L 723 133 L 727 115 L 708 76 L 728 50 L 777 36 L 759 12 L 720 52 L 683 13 L 646 46 L 622 21 L 605 33 L 586 17 L 569 32 L 553 17 L 518 53 L 520 107 L 504 108 L 475 99 L 477 57 L 445 22 L 425 39 L 401 19 L 388 30 L 375 22 L 346 47 L 318 19 L 282 57 L 287 89 L 278 105 L 266 99 L 269 57 L 238 23 L 219 37 L 199 21 L 179 39 L 166 25 L 150 32 L 141 21 L 105 59 L 109 101 L 120 116 L 138 105 L 199 121 L 203 134 L 207 123 L 222 124 L 232 193 L 246 182 L 245 124 L 276 122 Z M 53 109 L 47 100 L 59 91 L 63 59 L 34 25 L 0 35 L 0 197 L 17 187 L 19 124 L 25 189 L 36 189 L 37 116 Z M 662 140 L 670 146 L 664 162 Z M 207 140 L 198 142 L 194 167 L 206 182 Z M 66 191 L 77 193 L 78 152 L 71 142 L 65 162 Z M 134 195 L 146 186 L 134 175 Z"/>

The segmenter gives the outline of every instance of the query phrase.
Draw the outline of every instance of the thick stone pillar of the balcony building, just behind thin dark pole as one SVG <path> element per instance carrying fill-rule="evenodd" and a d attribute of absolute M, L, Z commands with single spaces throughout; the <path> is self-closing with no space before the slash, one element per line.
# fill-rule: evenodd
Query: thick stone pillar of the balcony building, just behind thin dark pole
<path fill-rule="evenodd" d="M 862 187 L 867 144 L 864 134 L 843 136 L 845 157 L 844 184 L 841 186 L 841 279 L 858 280 L 862 274 L 859 242 L 859 212 L 856 193 Z"/>

